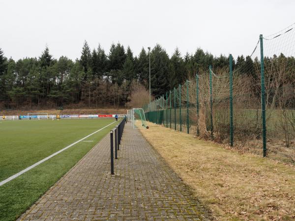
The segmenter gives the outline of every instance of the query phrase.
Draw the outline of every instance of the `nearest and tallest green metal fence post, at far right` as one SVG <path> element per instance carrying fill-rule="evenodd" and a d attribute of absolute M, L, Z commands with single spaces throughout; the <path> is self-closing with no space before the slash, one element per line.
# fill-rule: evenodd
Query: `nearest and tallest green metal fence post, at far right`
<path fill-rule="evenodd" d="M 263 55 L 263 35 L 260 38 L 260 70 L 261 70 L 261 109 L 262 109 L 262 137 L 263 137 L 263 157 L 266 157 L 266 91 L 264 76 L 264 55 Z"/>

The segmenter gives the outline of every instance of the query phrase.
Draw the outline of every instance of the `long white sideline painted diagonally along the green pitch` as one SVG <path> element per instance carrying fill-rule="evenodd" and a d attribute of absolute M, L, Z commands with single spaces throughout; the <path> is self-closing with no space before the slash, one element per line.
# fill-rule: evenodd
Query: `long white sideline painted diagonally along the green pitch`
<path fill-rule="evenodd" d="M 115 123 L 115 122 L 117 122 L 117 121 L 114 121 L 113 123 Z M 86 137 L 84 137 L 84 138 L 82 138 L 82 139 L 79 139 L 78 141 L 76 141 L 76 142 L 74 142 L 74 143 L 72 143 L 72 144 L 70 144 L 70 145 L 64 147 L 63 149 L 61 149 L 61 150 L 59 150 L 59 151 L 57 151 L 57 152 L 55 152 L 54 154 L 51 154 L 50 156 L 48 156 L 48 157 L 46 157 L 46 158 L 40 160 L 39 162 L 33 164 L 32 166 L 29 166 L 29 167 L 27 167 L 26 169 L 23 169 L 22 171 L 20 171 L 20 172 L 14 174 L 14 175 L 8 177 L 6 180 L 3 180 L 3 181 L 0 182 L 0 186 L 2 186 L 3 184 L 9 182 L 10 180 L 13 180 L 13 179 L 17 178 L 18 176 L 20 176 L 20 175 L 22 175 L 23 173 L 29 171 L 30 169 L 34 168 L 35 166 L 38 166 L 39 164 L 42 164 L 43 162 L 45 162 L 45 161 L 49 160 L 50 158 L 52 158 L 52 157 L 58 155 L 58 154 L 61 153 L 62 151 L 64 151 L 64 150 L 70 148 L 71 146 L 73 146 L 73 145 L 79 143 L 80 141 L 82 141 L 82 140 L 84 140 L 84 139 L 86 139 L 86 138 L 89 138 L 91 135 L 93 135 L 93 134 L 95 134 L 95 133 L 97 133 L 97 132 L 99 132 L 99 131 L 105 129 L 106 127 L 112 125 L 113 123 L 110 123 L 109 125 L 107 125 L 107 126 L 101 128 L 101 129 L 99 129 L 98 131 L 95 131 L 95 132 L 93 132 L 92 134 L 89 134 L 89 135 L 87 135 Z"/>

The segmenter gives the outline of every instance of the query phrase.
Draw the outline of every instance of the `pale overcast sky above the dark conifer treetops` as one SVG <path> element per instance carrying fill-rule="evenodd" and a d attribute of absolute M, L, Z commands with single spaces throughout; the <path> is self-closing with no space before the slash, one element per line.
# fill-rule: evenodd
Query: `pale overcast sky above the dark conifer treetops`
<path fill-rule="evenodd" d="M 295 0 L 0 0 L 0 48 L 17 60 L 38 57 L 46 44 L 59 58 L 80 57 L 84 40 L 142 47 L 169 55 L 198 47 L 213 55 L 249 55 L 259 34 L 295 22 Z"/>

